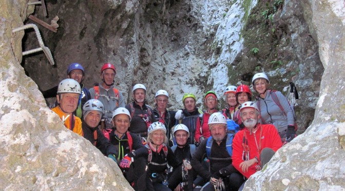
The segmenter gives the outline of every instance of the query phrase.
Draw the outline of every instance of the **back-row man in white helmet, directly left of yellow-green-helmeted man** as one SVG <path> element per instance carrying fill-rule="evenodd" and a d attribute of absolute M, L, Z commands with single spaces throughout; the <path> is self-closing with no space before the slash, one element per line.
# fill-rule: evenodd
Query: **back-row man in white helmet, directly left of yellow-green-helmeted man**
<path fill-rule="evenodd" d="M 166 109 L 167 104 L 169 103 L 169 94 L 167 91 L 160 89 L 156 92 L 155 95 L 155 104 L 156 108 L 153 110 L 156 121 L 159 121 L 165 125 L 166 136 L 169 140 L 169 146 L 172 146 L 171 138 L 171 128 L 174 127 L 176 123 L 175 114 L 176 111 L 169 111 Z"/>

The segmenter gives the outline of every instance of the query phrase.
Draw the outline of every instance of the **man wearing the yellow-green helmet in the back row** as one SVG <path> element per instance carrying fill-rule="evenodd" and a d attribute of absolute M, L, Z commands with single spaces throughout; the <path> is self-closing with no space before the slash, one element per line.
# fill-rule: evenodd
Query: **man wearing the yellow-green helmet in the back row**
<path fill-rule="evenodd" d="M 193 93 L 185 93 L 182 97 L 182 103 L 184 109 L 179 109 L 175 114 L 176 125 L 184 124 L 188 127 L 189 137 L 188 144 L 196 143 L 195 140 L 195 131 L 197 129 L 197 121 L 202 117 L 203 111 L 198 109 L 196 106 L 196 97 Z M 200 123 L 201 124 L 201 123 Z"/>

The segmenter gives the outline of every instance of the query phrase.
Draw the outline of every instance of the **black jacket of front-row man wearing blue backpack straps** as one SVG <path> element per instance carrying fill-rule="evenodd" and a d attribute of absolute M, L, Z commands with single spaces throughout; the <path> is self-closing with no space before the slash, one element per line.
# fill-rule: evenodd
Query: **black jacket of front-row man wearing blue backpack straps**
<path fill-rule="evenodd" d="M 211 146 L 211 153 L 210 157 L 213 158 L 229 158 L 229 154 L 226 150 L 226 137 L 220 143 L 217 144 L 216 141 L 213 141 Z M 212 175 L 218 173 L 218 171 L 222 168 L 225 168 L 228 174 L 232 174 L 238 172 L 238 170 L 232 165 L 232 160 L 210 160 L 210 172 L 208 169 L 205 169 L 201 162 L 206 157 L 206 143 L 207 139 L 203 140 L 199 147 L 197 148 L 195 154 L 191 158 L 190 164 L 193 166 L 193 169 L 197 171 L 197 173 L 206 180 L 209 180 Z"/>

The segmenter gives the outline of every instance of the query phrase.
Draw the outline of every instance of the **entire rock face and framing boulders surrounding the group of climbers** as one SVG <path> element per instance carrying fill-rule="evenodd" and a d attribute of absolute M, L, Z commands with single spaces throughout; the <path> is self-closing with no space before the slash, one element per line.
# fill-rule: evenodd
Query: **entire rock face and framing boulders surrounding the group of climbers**
<path fill-rule="evenodd" d="M 301 97 L 296 106 L 298 123 L 303 129 L 314 121 L 303 135 L 280 149 L 254 179 L 248 180 L 246 187 L 343 189 L 344 170 L 336 165 L 344 155 L 345 135 L 343 5 L 330 0 L 285 1 L 274 16 L 278 43 L 272 46 L 268 43 L 272 39 L 266 39 L 266 47 L 271 47 L 267 54 L 261 49 L 262 55 L 252 56 L 248 53 L 252 48 L 248 39 L 240 38 L 249 29 L 239 30 L 241 35 L 230 30 L 244 28 L 245 12 L 253 9 L 261 15 L 261 10 L 254 7 L 256 3 L 46 1 L 49 18 L 42 16 L 40 6 L 36 6 L 35 16 L 47 23 L 55 15 L 60 17 L 57 33 L 39 26 L 54 56 L 56 65 L 52 67 L 42 53 L 26 56 L 22 62 L 23 36 L 24 50 L 29 50 L 38 47 L 35 35 L 30 30 L 25 35 L 11 31 L 23 22 L 32 23 L 26 18 L 34 7 L 24 0 L 2 1 L 1 188 L 131 189 L 116 164 L 63 126 L 46 107 L 37 87 L 46 90 L 55 86 L 66 78 L 66 68 L 73 62 L 83 64 L 84 82 L 92 87 L 100 82 L 102 64 L 111 62 L 117 67 L 116 85 L 127 101 L 131 87 L 144 83 L 151 105 L 155 92 L 166 89 L 174 109 L 182 107 L 184 92 L 196 93 L 201 106 L 203 92 L 215 89 L 222 95 L 220 83 L 250 84 L 252 63 L 260 64 L 272 78 L 273 89 L 283 92 L 288 90 L 284 87 L 293 76 L 291 71 L 295 71 L 294 82 Z M 229 41 L 234 35 L 238 39 Z M 265 68 L 264 63 L 270 62 L 267 58 L 274 56 L 270 52 L 288 58 L 289 63 L 278 69 Z"/>

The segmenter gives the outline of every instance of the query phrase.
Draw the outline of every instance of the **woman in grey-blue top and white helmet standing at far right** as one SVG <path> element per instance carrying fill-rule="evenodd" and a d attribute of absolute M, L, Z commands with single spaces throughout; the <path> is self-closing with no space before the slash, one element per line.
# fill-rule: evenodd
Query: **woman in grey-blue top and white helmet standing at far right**
<path fill-rule="evenodd" d="M 295 116 L 289 101 L 280 91 L 268 89 L 270 81 L 265 73 L 255 74 L 252 83 L 259 94 L 256 99 L 262 124 L 273 124 L 283 142 L 293 140 L 296 137 Z"/>

